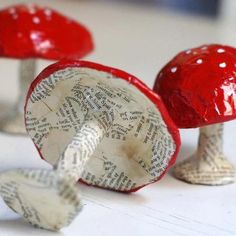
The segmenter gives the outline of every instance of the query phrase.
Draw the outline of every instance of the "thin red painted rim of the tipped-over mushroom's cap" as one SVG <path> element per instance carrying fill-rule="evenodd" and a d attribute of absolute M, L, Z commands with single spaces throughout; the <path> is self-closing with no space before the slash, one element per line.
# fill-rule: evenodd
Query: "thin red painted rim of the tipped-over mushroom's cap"
<path fill-rule="evenodd" d="M 126 81 L 128 81 L 130 84 L 132 84 L 133 86 L 135 86 L 138 90 L 140 90 L 143 94 L 145 94 L 157 107 L 157 109 L 161 112 L 162 114 L 162 118 L 164 120 L 164 122 L 167 125 L 168 131 L 169 133 L 172 135 L 172 138 L 176 144 L 176 150 L 173 154 L 173 156 L 171 157 L 168 167 L 166 168 L 166 170 L 164 170 L 164 172 L 162 173 L 162 175 L 156 179 L 155 181 L 158 181 L 163 175 L 164 173 L 169 169 L 169 167 L 171 167 L 176 160 L 177 154 L 179 152 L 179 147 L 180 147 L 180 136 L 179 136 L 179 131 L 176 128 L 174 122 L 171 120 L 165 106 L 163 105 L 163 102 L 161 101 L 160 97 L 155 94 L 151 89 L 149 89 L 143 82 L 141 82 L 138 78 L 136 78 L 135 76 L 128 74 L 122 70 L 119 69 L 115 69 L 115 68 L 111 68 L 111 67 L 107 67 L 107 66 L 103 66 L 97 63 L 93 63 L 93 62 L 88 62 L 88 61 L 79 61 L 79 60 L 62 60 L 59 61 L 55 64 L 52 64 L 50 66 L 48 66 L 46 69 L 44 69 L 39 75 L 38 77 L 33 81 L 33 83 L 31 84 L 28 94 L 27 94 L 27 98 L 26 98 L 26 104 L 25 104 L 25 111 L 26 111 L 26 107 L 27 107 L 27 102 L 32 94 L 32 92 L 34 91 L 35 87 L 44 79 L 46 79 L 47 77 L 49 77 L 51 74 L 55 73 L 56 71 L 59 70 L 63 70 L 66 69 L 68 67 L 86 67 L 86 68 L 91 68 L 91 69 L 95 69 L 98 71 L 104 71 L 107 73 L 112 74 L 114 77 L 118 77 L 121 79 L 124 79 Z M 43 159 L 47 159 L 45 157 L 42 156 L 40 149 L 36 146 L 37 150 L 39 151 L 40 156 Z M 83 180 L 83 183 L 86 183 Z M 143 186 L 138 186 L 135 189 L 132 189 L 128 192 L 135 192 L 137 190 L 139 190 L 140 188 L 144 187 Z"/>

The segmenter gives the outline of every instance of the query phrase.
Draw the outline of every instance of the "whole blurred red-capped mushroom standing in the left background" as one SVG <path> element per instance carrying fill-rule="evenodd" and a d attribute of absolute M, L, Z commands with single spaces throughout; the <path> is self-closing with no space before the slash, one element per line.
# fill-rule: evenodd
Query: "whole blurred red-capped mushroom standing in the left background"
<path fill-rule="evenodd" d="M 26 133 L 23 105 L 35 77 L 37 58 L 82 58 L 92 50 L 92 36 L 87 28 L 48 7 L 15 5 L 1 10 L 0 57 L 20 60 L 20 94 L 14 110 L 0 121 L 0 129 Z"/>

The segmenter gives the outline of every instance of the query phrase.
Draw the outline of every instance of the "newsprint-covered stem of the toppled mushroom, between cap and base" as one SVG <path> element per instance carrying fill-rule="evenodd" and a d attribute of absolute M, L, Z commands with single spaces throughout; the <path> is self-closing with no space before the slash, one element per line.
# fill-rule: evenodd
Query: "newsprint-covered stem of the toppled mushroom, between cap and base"
<path fill-rule="evenodd" d="M 103 112 L 99 117 L 94 116 L 84 121 L 58 161 L 56 170 L 59 176 L 74 182 L 80 179 L 87 162 L 113 124 L 113 120 L 113 112 Z"/>

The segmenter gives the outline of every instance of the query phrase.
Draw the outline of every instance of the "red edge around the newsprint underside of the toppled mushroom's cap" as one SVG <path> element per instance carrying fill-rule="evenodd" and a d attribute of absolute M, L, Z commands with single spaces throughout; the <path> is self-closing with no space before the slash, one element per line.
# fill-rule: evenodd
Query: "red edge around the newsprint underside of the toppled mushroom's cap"
<path fill-rule="evenodd" d="M 27 117 L 28 112 L 31 113 L 30 112 L 30 106 L 31 105 L 29 105 L 29 104 L 31 103 L 31 95 L 33 93 L 35 93 L 35 91 L 37 91 L 37 86 L 40 85 L 40 83 L 43 80 L 48 79 L 52 74 L 54 74 L 58 71 L 67 69 L 67 68 L 71 68 L 71 69 L 72 68 L 89 68 L 89 69 L 93 69 L 93 70 L 96 70 L 96 71 L 109 73 L 109 74 L 112 75 L 113 79 L 118 79 L 119 78 L 119 79 L 125 80 L 125 81 L 128 82 L 127 86 L 133 85 L 134 87 L 136 87 L 136 89 L 138 89 L 142 94 L 144 94 L 147 97 L 148 100 L 151 101 L 151 103 L 154 104 L 154 106 L 160 112 L 161 117 L 162 117 L 163 121 L 165 122 L 165 127 L 168 130 L 169 134 L 171 135 L 171 137 L 173 139 L 173 142 L 175 144 L 175 150 L 174 150 L 173 154 L 171 154 L 171 156 L 169 156 L 166 168 L 164 169 L 164 171 L 160 172 L 160 176 L 158 178 L 156 178 L 154 181 L 159 180 L 165 174 L 165 172 L 169 169 L 169 167 L 172 166 L 175 163 L 175 160 L 176 160 L 176 157 L 177 157 L 177 154 L 178 154 L 178 151 L 179 151 L 179 147 L 180 147 L 179 131 L 176 128 L 174 122 L 171 120 L 171 118 L 170 118 L 163 102 L 161 101 L 160 97 L 157 94 L 155 94 L 151 89 L 149 89 L 138 78 L 136 78 L 135 76 L 133 76 L 131 74 L 128 74 L 128 73 L 126 73 L 124 71 L 121 71 L 119 69 L 107 67 L 107 66 L 104 66 L 104 65 L 100 65 L 100 64 L 93 63 L 93 62 L 88 62 L 88 61 L 78 61 L 78 60 L 62 60 L 62 61 L 59 61 L 55 64 L 52 64 L 52 65 L 48 66 L 46 69 L 44 69 L 38 75 L 38 77 L 32 82 L 32 84 L 29 88 L 28 94 L 27 94 L 27 98 L 26 98 L 25 119 Z M 27 122 L 26 122 L 26 127 L 27 127 Z M 34 136 L 34 134 L 31 131 L 29 131 L 29 135 L 32 138 Z M 42 157 L 42 159 L 48 160 L 48 158 L 43 155 L 43 153 L 41 151 L 40 144 L 35 143 L 35 146 L 36 146 L 40 156 Z M 91 183 L 88 182 L 86 179 L 82 178 L 81 180 L 84 183 L 87 183 L 87 184 L 91 185 Z M 138 189 L 144 187 L 147 184 L 150 184 L 150 183 L 145 183 L 141 186 L 136 186 L 135 188 L 132 188 L 131 190 L 126 191 L 126 192 L 137 191 Z M 121 190 L 117 190 L 117 191 L 121 191 Z"/>

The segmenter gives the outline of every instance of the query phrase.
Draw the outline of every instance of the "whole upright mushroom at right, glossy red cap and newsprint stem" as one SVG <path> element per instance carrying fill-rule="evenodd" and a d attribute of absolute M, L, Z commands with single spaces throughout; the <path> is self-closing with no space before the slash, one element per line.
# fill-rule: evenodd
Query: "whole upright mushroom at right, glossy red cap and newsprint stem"
<path fill-rule="evenodd" d="M 157 76 L 157 92 L 179 128 L 200 128 L 198 148 L 174 176 L 193 184 L 235 181 L 223 153 L 223 123 L 236 118 L 236 49 L 203 45 L 180 52 Z"/>

